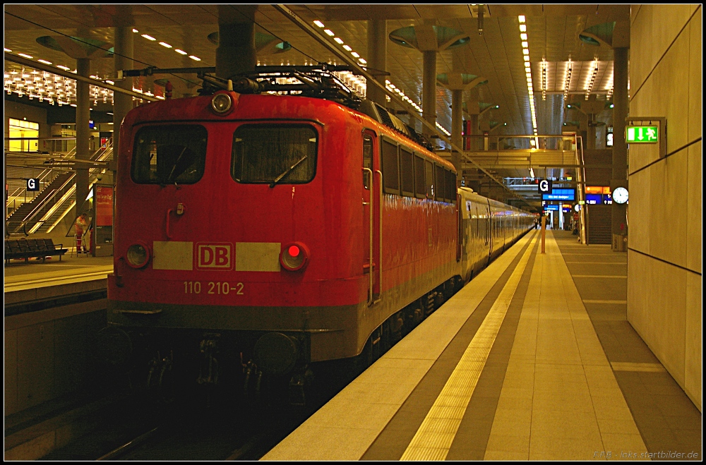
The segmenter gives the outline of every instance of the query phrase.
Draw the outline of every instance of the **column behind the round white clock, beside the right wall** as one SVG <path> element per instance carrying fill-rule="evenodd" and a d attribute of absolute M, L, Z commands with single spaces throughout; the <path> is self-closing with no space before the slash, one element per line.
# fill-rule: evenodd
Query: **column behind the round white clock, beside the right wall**
<path fill-rule="evenodd" d="M 628 51 L 617 47 L 614 53 L 613 71 L 613 179 L 611 188 L 627 186 L 628 147 L 625 142 L 625 119 L 628 116 Z M 626 204 L 611 206 L 611 230 L 613 234 L 628 234 Z"/>

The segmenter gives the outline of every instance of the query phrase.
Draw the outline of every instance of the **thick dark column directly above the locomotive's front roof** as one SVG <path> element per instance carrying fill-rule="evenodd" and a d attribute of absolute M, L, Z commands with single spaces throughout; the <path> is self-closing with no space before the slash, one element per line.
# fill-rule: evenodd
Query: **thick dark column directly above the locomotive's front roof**
<path fill-rule="evenodd" d="M 229 79 L 234 74 L 253 71 L 257 66 L 255 49 L 257 9 L 257 5 L 218 6 L 217 77 Z"/>

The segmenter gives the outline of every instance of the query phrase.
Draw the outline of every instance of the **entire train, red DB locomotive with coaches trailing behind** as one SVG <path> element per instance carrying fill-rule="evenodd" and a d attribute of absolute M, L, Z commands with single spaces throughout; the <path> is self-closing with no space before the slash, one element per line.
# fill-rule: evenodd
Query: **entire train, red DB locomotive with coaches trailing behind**
<path fill-rule="evenodd" d="M 258 90 L 275 84 L 121 125 L 104 336 L 115 363 L 145 347 L 148 383 L 245 366 L 299 386 L 311 363 L 372 361 L 531 227 L 457 191 L 453 165 L 383 107 L 343 86 Z"/>

